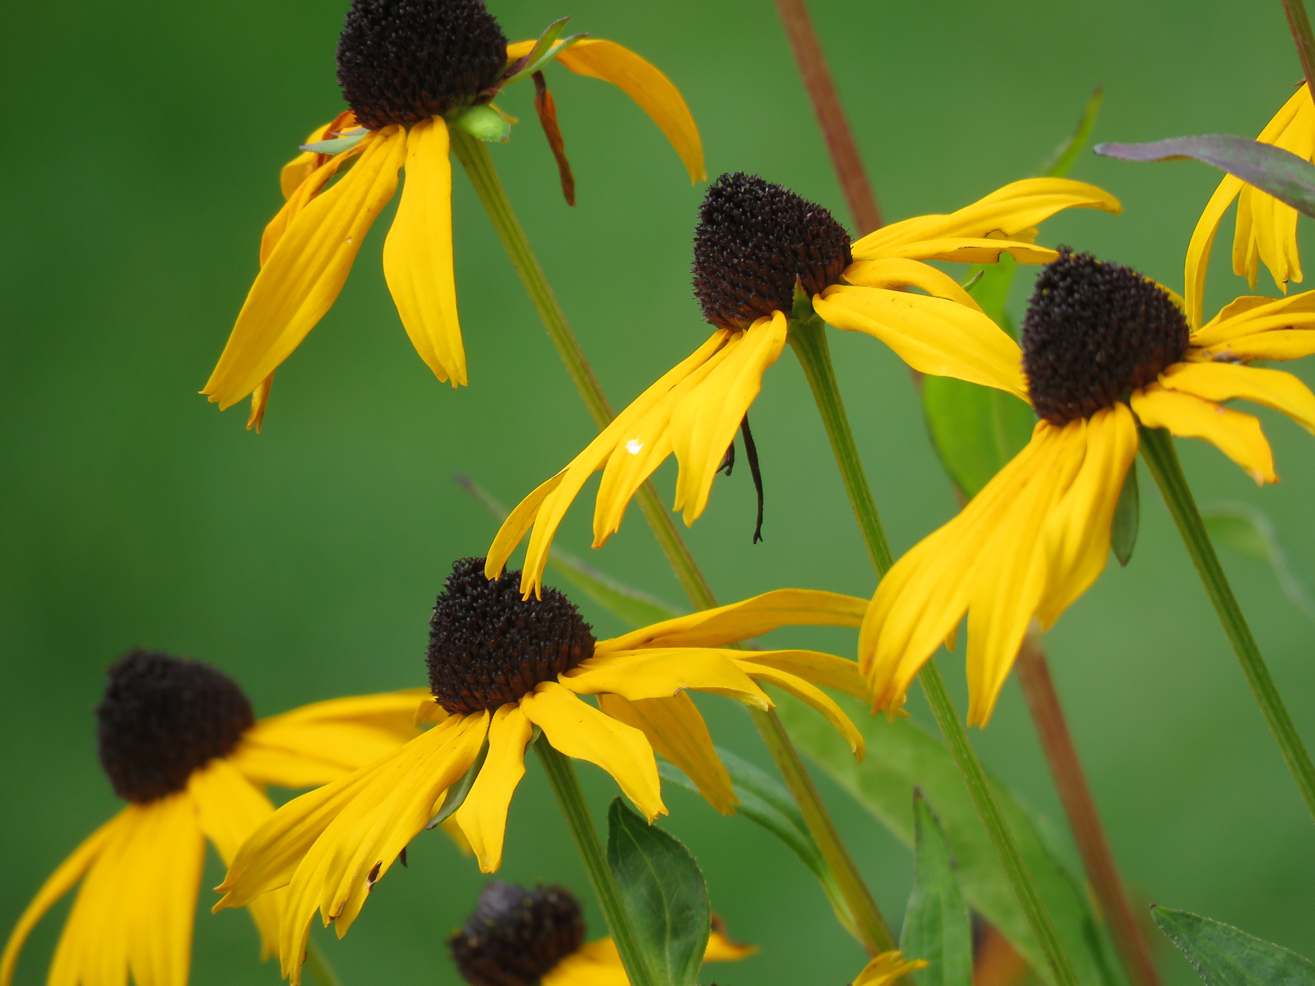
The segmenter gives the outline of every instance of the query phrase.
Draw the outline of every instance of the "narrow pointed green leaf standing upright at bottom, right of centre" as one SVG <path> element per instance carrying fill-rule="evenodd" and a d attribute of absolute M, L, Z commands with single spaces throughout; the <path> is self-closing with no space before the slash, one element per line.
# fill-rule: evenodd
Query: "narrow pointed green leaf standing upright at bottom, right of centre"
<path fill-rule="evenodd" d="M 917 787 L 913 816 L 917 873 L 899 932 L 899 951 L 905 958 L 927 960 L 926 969 L 913 973 L 918 986 L 970 986 L 973 931 L 968 906 L 945 833 Z"/>

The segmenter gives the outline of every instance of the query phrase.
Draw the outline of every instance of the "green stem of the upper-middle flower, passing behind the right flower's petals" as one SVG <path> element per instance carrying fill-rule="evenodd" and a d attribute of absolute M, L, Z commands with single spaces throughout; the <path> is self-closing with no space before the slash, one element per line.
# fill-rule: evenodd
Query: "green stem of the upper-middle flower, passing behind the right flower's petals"
<path fill-rule="evenodd" d="M 844 413 L 844 404 L 840 401 L 840 388 L 835 380 L 835 369 L 831 365 L 831 354 L 826 342 L 826 326 L 821 318 L 811 313 L 803 318 L 792 318 L 789 338 L 790 344 L 794 347 L 794 354 L 803 365 L 803 375 L 813 388 L 813 398 L 817 401 L 818 411 L 822 414 L 827 435 L 831 439 L 831 451 L 835 454 L 836 465 L 840 467 L 840 476 L 844 479 L 844 488 L 849 493 L 853 515 L 859 522 L 859 530 L 863 532 L 863 542 L 868 546 L 872 565 L 877 571 L 877 577 L 882 577 L 890 571 L 890 565 L 893 564 L 890 546 L 886 543 L 885 531 L 881 530 L 881 519 L 877 515 L 877 506 L 872 500 L 872 492 L 863 472 L 863 463 L 859 459 L 853 433 L 849 429 L 849 418 Z M 1077 986 L 1077 975 L 1060 943 L 1051 912 L 1036 890 L 1036 883 L 1027 869 L 1027 864 L 1023 862 L 1023 856 L 1018 851 L 1018 843 L 1014 840 L 1014 835 L 1005 822 L 1005 815 L 1001 812 L 995 794 L 986 781 L 986 773 L 982 770 L 981 761 L 977 760 L 977 753 L 968 741 L 968 731 L 955 711 L 953 701 L 945 690 L 945 682 L 940 677 L 940 670 L 936 668 L 935 661 L 927 661 L 923 665 L 918 680 L 922 682 L 927 703 L 936 718 L 936 724 L 945 738 L 945 745 L 949 748 L 955 765 L 964 778 L 964 785 L 973 798 L 977 814 L 986 827 L 992 845 L 995 848 L 995 853 L 1005 866 L 1005 873 L 1014 886 L 1014 893 L 1023 908 L 1023 914 L 1027 916 L 1027 922 L 1032 927 L 1032 933 L 1036 935 L 1036 940 L 1045 953 L 1045 958 L 1055 974 L 1055 982 L 1059 986 Z"/>

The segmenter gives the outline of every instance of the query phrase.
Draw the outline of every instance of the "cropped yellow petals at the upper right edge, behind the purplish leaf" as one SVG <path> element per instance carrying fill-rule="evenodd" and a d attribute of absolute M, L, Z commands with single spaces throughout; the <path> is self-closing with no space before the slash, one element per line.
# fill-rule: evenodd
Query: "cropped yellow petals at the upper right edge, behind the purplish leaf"
<path fill-rule="evenodd" d="M 1315 104 L 1311 103 L 1310 89 L 1304 83 L 1256 139 L 1291 151 L 1298 158 L 1315 160 Z M 1193 325 L 1198 325 L 1202 317 L 1210 247 L 1215 242 L 1219 222 L 1233 199 L 1237 200 L 1233 273 L 1244 275 L 1255 291 L 1260 262 L 1264 260 L 1274 283 L 1285 294 L 1287 281 L 1302 280 L 1302 262 L 1297 250 L 1297 209 L 1283 205 L 1268 192 L 1248 185 L 1240 177 L 1226 175 L 1219 188 L 1210 196 L 1187 246 L 1184 284 L 1187 318 Z"/>

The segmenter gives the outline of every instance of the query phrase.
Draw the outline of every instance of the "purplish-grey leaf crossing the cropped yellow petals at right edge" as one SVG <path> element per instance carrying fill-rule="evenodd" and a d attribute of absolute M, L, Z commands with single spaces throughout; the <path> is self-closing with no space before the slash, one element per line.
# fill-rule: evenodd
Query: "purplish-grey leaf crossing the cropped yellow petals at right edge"
<path fill-rule="evenodd" d="M 1119 160 L 1199 160 L 1269 192 L 1298 212 L 1315 216 L 1315 164 L 1270 143 L 1232 134 L 1205 134 L 1149 143 L 1098 143 L 1093 150 Z"/>

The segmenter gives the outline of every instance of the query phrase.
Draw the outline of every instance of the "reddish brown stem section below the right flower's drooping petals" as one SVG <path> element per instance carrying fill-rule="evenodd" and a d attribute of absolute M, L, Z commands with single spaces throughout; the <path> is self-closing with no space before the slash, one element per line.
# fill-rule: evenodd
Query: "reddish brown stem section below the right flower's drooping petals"
<path fill-rule="evenodd" d="M 1036 735 L 1051 766 L 1051 777 L 1064 803 L 1069 828 L 1073 830 L 1073 840 L 1082 856 L 1082 865 L 1091 881 L 1095 899 L 1099 901 L 1110 923 L 1123 965 L 1135 986 L 1160 986 L 1160 974 L 1151 956 L 1151 945 L 1141 923 L 1132 912 L 1132 904 L 1110 853 L 1110 844 L 1105 839 L 1101 816 L 1095 811 L 1095 799 L 1086 784 L 1082 761 L 1078 760 L 1073 736 L 1064 719 L 1064 709 L 1060 706 L 1060 697 L 1055 692 L 1051 669 L 1045 663 L 1045 652 L 1031 634 L 1018 652 L 1015 667 L 1027 707 L 1032 711 Z"/>

